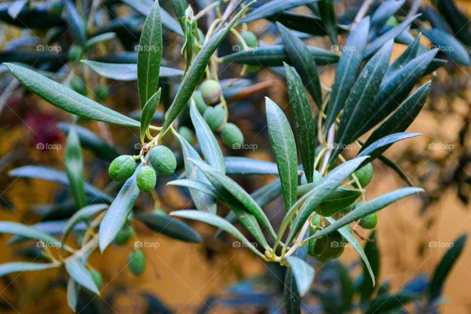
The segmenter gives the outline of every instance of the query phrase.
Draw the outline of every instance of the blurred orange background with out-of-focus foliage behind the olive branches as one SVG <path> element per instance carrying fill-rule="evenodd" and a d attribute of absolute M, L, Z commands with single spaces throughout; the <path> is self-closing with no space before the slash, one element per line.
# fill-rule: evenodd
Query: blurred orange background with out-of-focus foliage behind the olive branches
<path fill-rule="evenodd" d="M 74 35 L 71 34 L 70 26 L 62 20 L 61 11 L 54 11 L 61 9 L 61 1 L 24 2 L 27 2 L 26 6 L 20 8 L 15 20 L 8 15 L 11 3 L 0 4 L 3 5 L 0 9 L 0 61 L 27 64 L 48 72 L 59 81 L 69 83 L 74 77 L 85 81 L 84 77 L 89 76 L 92 86 L 100 84 L 107 88 L 109 97 L 102 104 L 124 114 L 135 114 L 134 111 L 139 107 L 135 81 L 106 79 L 85 70 L 83 64 L 71 60 L 69 50 L 74 44 Z M 160 2 L 163 9 L 173 14 L 170 1 Z M 197 0 L 191 2 L 191 5 L 196 13 L 210 2 Z M 373 2 L 376 2 L 373 7 L 379 5 L 379 1 Z M 411 5 L 407 2 L 406 6 Z M 257 3 L 256 6 L 262 3 Z M 348 24 L 361 3 L 336 1 L 339 23 Z M 466 16 L 471 16 L 469 1 L 452 3 Z M 124 2 L 112 0 L 78 0 L 77 5 L 87 8 L 86 16 L 89 16 L 88 10 L 93 10 L 94 19 L 88 22 L 89 33 L 116 34 L 110 40 L 98 43 L 84 52 L 85 55 L 80 58 L 115 63 L 135 62 L 136 52 L 133 48 L 138 43 L 144 19 L 142 12 Z M 429 1 L 422 3 L 420 10 L 424 13 L 426 10 L 422 9 L 425 7 L 438 10 L 437 4 Z M 300 9 L 301 12 L 306 10 Z M 404 10 L 403 15 L 408 12 L 407 9 Z M 48 12 L 48 15 L 41 15 L 37 11 Z M 78 12 L 81 12 L 80 9 Z M 203 30 L 207 29 L 211 14 L 207 17 L 198 23 Z M 446 23 L 445 18 L 444 21 Z M 422 23 L 429 22 L 424 20 Z M 412 32 L 417 27 L 413 25 Z M 248 29 L 257 35 L 260 46 L 271 45 L 279 40 L 276 26 L 267 21 L 250 23 Z M 340 36 L 340 42 L 344 40 L 344 36 Z M 167 29 L 163 32 L 163 43 L 164 65 L 183 69 L 184 63 L 180 61 L 182 37 Z M 308 39 L 306 43 L 332 50 L 331 43 L 325 36 Z M 422 37 L 421 43 L 425 47 L 432 45 L 425 37 Z M 236 44 L 235 37 L 229 34 L 218 49 L 218 55 L 233 53 Z M 44 48 L 38 48 L 38 45 L 43 45 Z M 392 60 L 406 47 L 395 44 Z M 467 46 L 466 48 L 470 51 Z M 425 193 L 401 200 L 378 212 L 376 243 L 381 252 L 380 283 L 387 283 L 391 291 L 408 287 L 414 280 L 414 284 L 418 285 L 423 274 L 430 276 L 448 251 L 450 243 L 471 229 L 471 70 L 470 67 L 455 62 L 444 52 L 439 52 L 439 57 L 448 62 L 433 76 L 422 79 L 421 83 L 432 80 L 431 93 L 417 120 L 408 129 L 410 132 L 422 133 L 422 136 L 396 143 L 386 153 L 397 162 L 414 185 L 425 189 Z M 221 63 L 219 77 L 230 82 L 231 79 L 238 78 L 241 69 L 242 65 L 235 62 Z M 222 143 L 221 147 L 225 150 L 225 156 L 274 161 L 266 130 L 264 97 L 268 96 L 281 107 L 286 107 L 286 81 L 278 69 L 261 67 L 256 70 L 248 72 L 244 78 L 224 89 L 228 99 L 229 121 L 242 130 L 245 143 L 251 144 L 251 148 L 229 150 Z M 334 70 L 335 65 L 321 66 L 321 82 L 331 86 Z M 158 111 L 163 112 L 163 108 L 169 104 L 168 100 L 171 102 L 178 81 L 176 78 L 168 78 L 160 82 L 168 99 L 163 99 Z M 4 66 L 0 69 L 0 90 L 0 220 L 32 225 L 45 220 L 64 219 L 67 217 L 67 210 L 69 213 L 71 210 L 64 205 L 70 199 L 66 187 L 42 180 L 12 178 L 8 176 L 8 172 L 25 165 L 42 165 L 64 171 L 66 134 L 57 123 L 71 123 L 73 118 L 26 92 L 7 73 Z M 286 114 L 292 123 L 289 110 Z M 75 122 L 95 132 L 119 153 L 136 154 L 140 149 L 135 145 L 139 143 L 136 130 L 83 120 Z M 159 122 L 156 123 L 158 125 Z M 179 123 L 190 125 L 184 114 Z M 365 139 L 367 135 L 364 136 Z M 171 137 L 164 141 L 172 151 L 180 150 Z M 87 149 L 83 154 L 86 181 L 108 190 L 116 188 L 108 186 L 106 169 L 111 159 L 106 156 L 97 157 L 96 151 Z M 354 154 L 354 151 L 347 151 L 346 157 L 353 157 Z M 373 169 L 373 180 L 366 188 L 366 199 L 406 185 L 392 169 L 379 160 L 373 162 Z M 172 178 L 159 178 L 156 188 L 158 198 L 148 193 L 141 194 L 134 210 L 151 211 L 159 208 L 170 212 L 192 209 L 187 191 L 165 185 L 166 181 L 175 179 L 177 175 L 178 172 Z M 236 180 L 252 192 L 262 184 L 274 180 L 274 177 L 238 176 Z M 275 229 L 283 217 L 274 213 L 281 207 L 283 201 L 278 198 L 265 210 L 270 220 L 274 221 Z M 222 210 L 224 212 L 227 209 Z M 278 278 L 282 278 L 277 273 L 279 269 L 262 262 L 230 237 L 215 238 L 214 228 L 202 223 L 190 224 L 203 236 L 202 244 L 183 243 L 164 235 L 156 235 L 139 222 L 133 224 L 133 231 L 139 241 L 156 243 L 155 247 L 143 248 L 148 258 L 148 267 L 140 277 L 132 275 L 127 268 L 127 257 L 133 248 L 133 241 L 124 246 L 112 245 L 103 255 L 93 253 L 90 263 L 102 274 L 102 295 L 83 295 L 79 300 L 78 312 L 283 313 L 283 300 L 276 288 L 280 284 Z M 7 246 L 8 238 L 6 235 L 0 236 L 0 262 L 32 258 L 38 254 L 38 248 L 31 246 L 31 243 Z M 350 267 L 352 272 L 358 273 L 354 266 L 359 263 L 359 257 L 354 250 L 347 247 L 340 261 Z M 443 296 L 447 299 L 438 307 L 440 313 L 471 313 L 470 265 L 471 245 L 467 243 L 446 280 Z M 324 268 L 325 276 L 328 269 L 329 267 Z M 327 280 L 324 275 L 322 271 L 316 274 L 316 284 L 320 285 L 322 283 L 318 281 Z M 250 285 L 257 286 L 257 278 L 263 276 L 268 278 L 262 285 L 263 293 L 255 295 L 257 297 L 247 296 L 245 299 L 235 297 L 234 292 L 240 292 L 244 285 L 249 284 L 236 288 L 232 286 L 232 289 L 231 285 L 252 278 Z M 63 269 L 2 277 L 1 313 L 70 313 L 66 301 L 66 282 L 67 276 Z M 315 304 L 315 294 L 311 298 Z M 279 304 L 274 309 L 277 312 L 267 310 L 273 304 Z M 315 306 L 309 311 L 305 310 L 306 313 L 315 313 Z M 415 313 L 411 311 L 410 313 Z"/>

